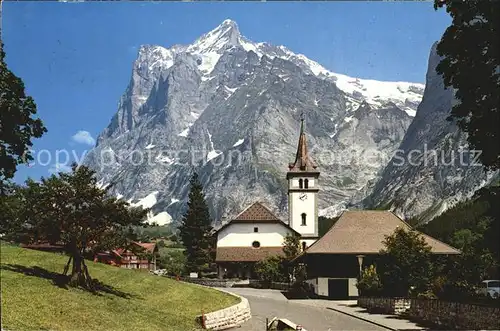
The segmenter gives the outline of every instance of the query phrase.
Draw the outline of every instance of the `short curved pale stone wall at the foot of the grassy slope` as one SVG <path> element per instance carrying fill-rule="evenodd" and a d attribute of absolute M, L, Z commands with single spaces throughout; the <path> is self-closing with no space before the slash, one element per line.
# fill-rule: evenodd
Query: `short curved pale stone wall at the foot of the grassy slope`
<path fill-rule="evenodd" d="M 240 303 L 228 308 L 198 316 L 198 322 L 204 329 L 225 330 L 235 328 L 252 317 L 248 300 L 233 293 L 229 294 L 239 297 L 241 300 Z"/>

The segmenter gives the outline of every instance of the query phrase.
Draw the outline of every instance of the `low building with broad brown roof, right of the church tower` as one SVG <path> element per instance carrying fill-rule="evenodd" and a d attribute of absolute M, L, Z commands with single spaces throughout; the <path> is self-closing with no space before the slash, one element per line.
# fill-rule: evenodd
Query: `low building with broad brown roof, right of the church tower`
<path fill-rule="evenodd" d="M 398 227 L 411 228 L 390 211 L 345 211 L 296 261 L 306 265 L 307 282 L 317 295 L 332 299 L 357 297 L 356 281 L 362 268 L 373 263 L 384 248 L 385 237 Z M 421 235 L 436 255 L 460 254 L 435 238 Z"/>

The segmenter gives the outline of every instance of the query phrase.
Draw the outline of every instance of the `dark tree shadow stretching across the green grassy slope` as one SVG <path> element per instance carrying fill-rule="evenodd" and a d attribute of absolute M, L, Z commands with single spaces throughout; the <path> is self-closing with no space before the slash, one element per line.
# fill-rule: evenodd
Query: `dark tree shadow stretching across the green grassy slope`
<path fill-rule="evenodd" d="M 52 284 L 55 286 L 62 288 L 62 289 L 69 289 L 69 276 L 65 276 L 63 274 L 49 271 L 47 269 L 43 269 L 37 266 L 34 267 L 27 267 L 19 264 L 2 264 L 0 266 L 0 270 L 7 270 L 7 271 L 12 271 L 12 272 L 17 272 L 24 274 L 26 276 L 32 276 L 32 277 L 38 277 L 38 278 L 43 278 L 47 280 L 51 280 Z M 126 293 L 123 291 L 120 291 L 116 288 L 114 288 L 111 285 L 104 284 L 100 282 L 97 279 L 92 279 L 93 285 L 94 285 L 94 291 L 91 291 L 89 289 L 83 288 L 83 287 L 78 287 L 81 290 L 91 292 L 92 294 L 95 295 L 102 295 L 103 293 L 106 294 L 111 294 L 111 295 L 116 295 L 118 297 L 124 298 L 124 299 L 130 299 L 133 297 L 137 297 L 136 295 L 132 295 L 130 293 Z"/>

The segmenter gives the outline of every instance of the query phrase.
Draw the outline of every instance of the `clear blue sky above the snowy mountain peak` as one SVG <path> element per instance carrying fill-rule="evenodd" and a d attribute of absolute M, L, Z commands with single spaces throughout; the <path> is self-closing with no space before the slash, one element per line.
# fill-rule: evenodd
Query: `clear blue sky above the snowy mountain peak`
<path fill-rule="evenodd" d="M 16 181 L 47 176 L 56 150 L 80 157 L 92 147 L 140 45 L 189 44 L 227 18 L 247 38 L 285 45 L 334 72 L 421 83 L 430 47 L 451 22 L 432 2 L 4 2 L 7 64 L 48 129 L 35 140 L 36 164 L 22 166 Z"/>

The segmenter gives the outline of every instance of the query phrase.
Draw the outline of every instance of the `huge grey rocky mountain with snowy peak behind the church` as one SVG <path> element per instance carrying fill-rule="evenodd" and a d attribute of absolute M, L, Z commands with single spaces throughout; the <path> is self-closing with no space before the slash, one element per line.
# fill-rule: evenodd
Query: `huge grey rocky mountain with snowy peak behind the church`
<path fill-rule="evenodd" d="M 401 144 L 424 85 L 328 71 L 226 20 L 190 45 L 145 45 L 116 114 L 87 155 L 101 185 L 154 220 L 180 220 L 197 171 L 216 222 L 264 201 L 286 219 L 285 175 L 304 113 L 321 171 L 320 214 L 369 194 Z"/>

